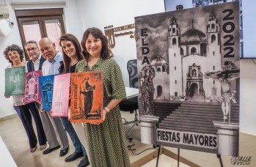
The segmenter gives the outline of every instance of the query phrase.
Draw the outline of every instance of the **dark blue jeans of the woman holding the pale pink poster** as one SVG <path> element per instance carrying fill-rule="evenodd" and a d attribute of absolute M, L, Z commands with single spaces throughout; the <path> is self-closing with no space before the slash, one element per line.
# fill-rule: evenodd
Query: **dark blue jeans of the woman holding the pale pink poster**
<path fill-rule="evenodd" d="M 59 116 L 59 119 L 62 122 L 62 126 L 64 130 L 66 130 L 68 135 L 70 136 L 73 146 L 75 147 L 75 152 L 83 152 L 84 156 L 87 155 L 87 152 L 84 149 L 84 146 L 81 144 L 81 141 L 79 140 L 73 125 L 67 119 L 67 116 Z"/>

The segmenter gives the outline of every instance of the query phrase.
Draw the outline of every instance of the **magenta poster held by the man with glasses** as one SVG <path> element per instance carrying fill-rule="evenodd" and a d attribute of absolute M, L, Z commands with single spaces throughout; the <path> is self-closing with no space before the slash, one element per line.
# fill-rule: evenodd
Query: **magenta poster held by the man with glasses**
<path fill-rule="evenodd" d="M 40 102 L 41 94 L 38 78 L 42 76 L 42 70 L 32 71 L 25 74 L 25 86 L 23 103 Z"/>

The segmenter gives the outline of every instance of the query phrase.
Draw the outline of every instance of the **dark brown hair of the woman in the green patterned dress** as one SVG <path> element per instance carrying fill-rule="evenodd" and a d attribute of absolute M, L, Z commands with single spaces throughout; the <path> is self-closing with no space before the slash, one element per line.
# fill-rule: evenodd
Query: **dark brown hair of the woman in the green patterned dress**
<path fill-rule="evenodd" d="M 100 58 L 109 59 L 114 56 L 112 51 L 108 47 L 108 39 L 103 34 L 103 32 L 96 27 L 92 27 L 92 28 L 88 28 L 87 30 L 84 31 L 83 39 L 81 40 L 81 48 L 83 49 L 82 54 L 84 56 L 84 59 L 86 59 L 86 60 L 89 59 L 89 53 L 86 48 L 86 41 L 87 41 L 89 34 L 92 34 L 93 37 L 95 37 L 96 39 L 99 38 L 101 40 L 102 50 L 100 53 Z"/>

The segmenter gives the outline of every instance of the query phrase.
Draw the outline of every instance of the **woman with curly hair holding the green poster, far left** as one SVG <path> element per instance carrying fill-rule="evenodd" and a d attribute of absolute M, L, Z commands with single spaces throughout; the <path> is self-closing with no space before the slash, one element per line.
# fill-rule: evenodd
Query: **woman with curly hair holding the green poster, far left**
<path fill-rule="evenodd" d="M 10 65 L 8 65 L 7 68 L 22 67 L 26 65 L 26 62 L 23 60 L 23 50 L 18 45 L 12 44 L 7 46 L 4 50 L 4 57 L 10 62 Z M 9 96 L 5 97 L 9 98 Z M 26 135 L 29 138 L 30 152 L 35 152 L 37 149 L 37 136 L 38 141 L 40 142 L 40 150 L 45 149 L 47 140 L 37 108 L 34 107 L 29 110 L 28 105 L 23 105 L 23 94 L 12 95 L 10 96 L 10 99 L 15 111 L 21 119 L 24 129 L 26 130 Z M 31 115 L 34 118 L 37 127 L 37 136 L 34 133 Z"/>

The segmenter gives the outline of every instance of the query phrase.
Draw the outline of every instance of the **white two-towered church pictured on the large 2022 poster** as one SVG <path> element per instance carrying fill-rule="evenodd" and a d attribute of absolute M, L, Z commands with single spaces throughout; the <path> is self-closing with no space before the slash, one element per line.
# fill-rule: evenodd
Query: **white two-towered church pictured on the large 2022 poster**
<path fill-rule="evenodd" d="M 170 96 L 176 99 L 186 96 L 191 101 L 203 101 L 205 97 L 216 100 L 221 95 L 221 84 L 203 77 L 205 72 L 222 70 L 221 29 L 216 14 L 211 12 L 206 25 L 197 25 L 196 18 L 188 22 L 189 29 L 180 27 L 178 18 L 170 20 Z M 200 26 L 205 27 L 205 31 L 198 30 Z"/>

